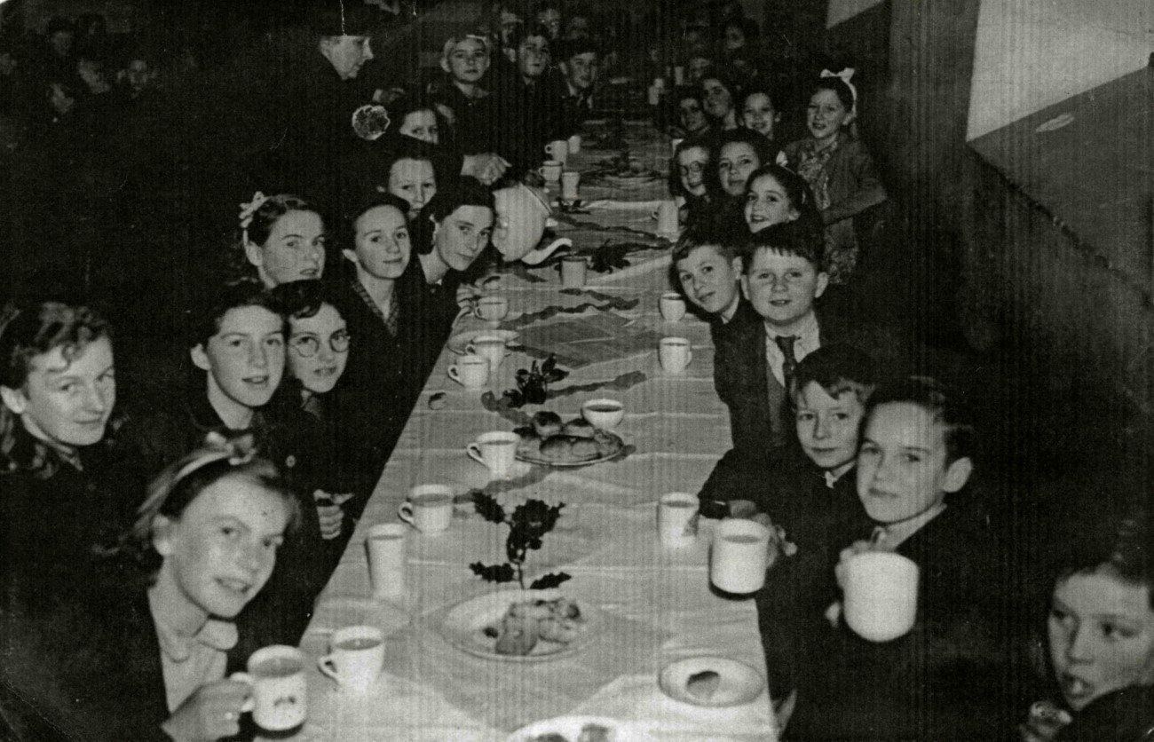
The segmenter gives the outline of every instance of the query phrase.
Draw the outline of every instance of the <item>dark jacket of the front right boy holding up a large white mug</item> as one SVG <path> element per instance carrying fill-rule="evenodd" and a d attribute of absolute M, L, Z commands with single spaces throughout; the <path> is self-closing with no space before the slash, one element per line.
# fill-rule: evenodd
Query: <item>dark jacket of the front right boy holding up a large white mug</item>
<path fill-rule="evenodd" d="M 868 642 L 811 615 L 789 740 L 1001 740 L 1018 720 L 1009 583 L 984 510 L 953 495 L 898 547 L 921 568 L 906 636 Z M 856 538 L 869 537 L 864 530 Z M 848 546 L 848 542 L 842 545 Z"/>

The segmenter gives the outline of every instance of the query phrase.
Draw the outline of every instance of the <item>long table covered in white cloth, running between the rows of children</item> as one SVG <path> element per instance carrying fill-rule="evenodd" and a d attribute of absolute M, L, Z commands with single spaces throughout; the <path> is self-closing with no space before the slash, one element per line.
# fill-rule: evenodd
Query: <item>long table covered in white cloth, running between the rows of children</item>
<path fill-rule="evenodd" d="M 651 157 L 655 168 L 666 166 L 667 140 L 646 128 L 631 127 L 629 134 L 635 152 Z M 606 155 L 586 149 L 570 166 L 589 170 Z M 696 655 L 732 658 L 765 674 L 752 602 L 725 600 L 709 589 L 709 534 L 685 549 L 662 548 L 657 539 L 658 497 L 697 492 L 729 445 L 728 417 L 713 390 L 706 324 L 689 315 L 667 323 L 658 310 L 668 290 L 668 242 L 640 233 L 655 228 L 651 202 L 664 193 L 659 181 L 625 190 L 591 180 L 582 193 L 593 201 L 590 213 L 559 215 L 557 234 L 571 237 L 579 250 L 606 239 L 636 242 L 628 268 L 591 272 L 577 292 L 562 293 L 550 265 L 519 268 L 484 288 L 509 298 L 511 313 L 502 327 L 517 329 L 526 343 L 532 339 L 535 357 L 515 351 L 482 391 L 500 396 L 515 387 L 518 368 L 554 351 L 570 361 L 562 366 L 571 373 L 550 387 L 548 403 L 524 412 L 548 409 L 570 419 L 586 399 L 620 399 L 627 415 L 616 432 L 630 447 L 628 455 L 583 469 L 518 463 L 508 479 L 490 481 L 465 445 L 515 424 L 487 409 L 482 391 L 447 376 L 456 358 L 447 346 L 301 643 L 316 658 L 328 650 L 334 629 L 379 625 L 387 632 L 384 673 L 368 694 L 353 695 L 313 669 L 309 717 L 295 739 L 495 741 L 535 720 L 570 714 L 636 722 L 657 740 L 775 739 L 764 690 L 750 704 L 703 709 L 673 700 L 658 687 L 664 666 Z M 592 307 L 555 312 L 583 303 Z M 485 327 L 469 318 L 455 332 Z M 662 336 L 691 340 L 685 374 L 661 372 L 657 342 Z M 467 507 L 458 509 L 443 534 L 410 532 L 403 600 L 370 597 L 367 530 L 397 522 L 409 489 L 433 482 L 458 493 L 485 488 L 505 503 L 527 497 L 565 503 L 544 548 L 530 553 L 527 571 L 568 572 L 572 579 L 563 592 L 601 612 L 604 622 L 587 646 L 568 657 L 517 664 L 472 657 L 441 636 L 440 622 L 451 606 L 508 587 L 485 583 L 469 569 L 474 561 L 504 561 L 507 529 Z"/>

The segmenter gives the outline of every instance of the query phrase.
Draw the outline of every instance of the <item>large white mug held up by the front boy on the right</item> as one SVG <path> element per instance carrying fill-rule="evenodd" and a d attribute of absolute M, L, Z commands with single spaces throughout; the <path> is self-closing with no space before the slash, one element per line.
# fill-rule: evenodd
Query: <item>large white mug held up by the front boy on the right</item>
<path fill-rule="evenodd" d="M 893 552 L 850 556 L 842 570 L 846 625 L 870 642 L 890 642 L 914 628 L 917 564 Z"/>

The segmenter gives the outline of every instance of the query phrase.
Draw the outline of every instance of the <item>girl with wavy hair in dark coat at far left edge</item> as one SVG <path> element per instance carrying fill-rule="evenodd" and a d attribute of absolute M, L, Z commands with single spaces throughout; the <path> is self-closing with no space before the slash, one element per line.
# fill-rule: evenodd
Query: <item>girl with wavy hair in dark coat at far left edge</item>
<path fill-rule="evenodd" d="M 91 561 L 130 522 L 144 477 L 126 477 L 106 440 L 117 380 L 99 314 L 51 301 L 9 307 L 0 358 L 0 571 L 10 598 Z"/>

